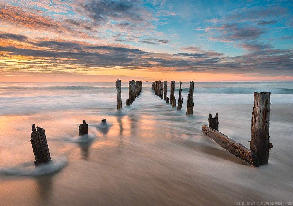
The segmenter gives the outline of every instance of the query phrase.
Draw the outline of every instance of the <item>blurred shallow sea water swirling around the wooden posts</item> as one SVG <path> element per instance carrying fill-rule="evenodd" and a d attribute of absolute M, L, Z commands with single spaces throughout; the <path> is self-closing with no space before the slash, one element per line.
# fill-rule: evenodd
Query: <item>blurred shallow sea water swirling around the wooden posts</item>
<path fill-rule="evenodd" d="M 154 95 L 151 82 L 142 86 L 126 107 L 128 83 L 122 83 L 123 110 L 117 112 L 115 82 L 0 83 L 0 205 L 293 201 L 292 82 L 195 82 L 192 117 L 185 116 L 188 82 L 182 111 Z M 273 148 L 269 164 L 258 168 L 201 132 L 208 115 L 218 112 L 219 130 L 249 148 L 253 91 L 272 92 Z M 109 127 L 100 127 L 103 118 Z M 79 139 L 82 120 L 89 136 Z M 45 129 L 59 167 L 33 170 L 33 123 Z"/>

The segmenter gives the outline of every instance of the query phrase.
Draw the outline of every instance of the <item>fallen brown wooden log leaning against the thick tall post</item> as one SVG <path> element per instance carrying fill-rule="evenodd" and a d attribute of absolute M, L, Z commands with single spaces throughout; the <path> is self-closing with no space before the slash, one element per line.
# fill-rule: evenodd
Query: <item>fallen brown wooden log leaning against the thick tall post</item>
<path fill-rule="evenodd" d="M 207 125 L 202 125 L 202 133 L 212 138 L 219 146 L 229 151 L 231 154 L 245 160 L 250 165 L 258 167 L 258 157 L 256 154 L 242 144 L 236 143 L 233 139 Z"/>

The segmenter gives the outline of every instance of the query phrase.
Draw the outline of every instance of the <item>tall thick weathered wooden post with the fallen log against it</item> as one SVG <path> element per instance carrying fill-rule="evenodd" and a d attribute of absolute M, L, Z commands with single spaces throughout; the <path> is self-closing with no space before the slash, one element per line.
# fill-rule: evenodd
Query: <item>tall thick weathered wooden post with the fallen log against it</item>
<path fill-rule="evenodd" d="M 250 149 L 256 153 L 259 165 L 269 161 L 270 143 L 270 92 L 254 92 L 254 107 L 251 118 Z"/>

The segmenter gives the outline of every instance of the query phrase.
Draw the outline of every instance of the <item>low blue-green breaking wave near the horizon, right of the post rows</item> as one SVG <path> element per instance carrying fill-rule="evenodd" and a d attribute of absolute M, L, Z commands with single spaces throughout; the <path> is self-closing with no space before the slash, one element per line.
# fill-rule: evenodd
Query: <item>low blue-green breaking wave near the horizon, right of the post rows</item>
<path fill-rule="evenodd" d="M 175 91 L 179 92 L 179 89 Z M 251 87 L 202 87 L 194 88 L 194 93 L 217 93 L 217 94 L 253 94 L 253 92 L 264 92 L 268 91 L 274 94 L 293 94 L 293 89 L 289 88 L 276 88 L 276 89 L 261 89 Z M 189 88 L 183 88 L 183 93 L 188 93 Z"/>

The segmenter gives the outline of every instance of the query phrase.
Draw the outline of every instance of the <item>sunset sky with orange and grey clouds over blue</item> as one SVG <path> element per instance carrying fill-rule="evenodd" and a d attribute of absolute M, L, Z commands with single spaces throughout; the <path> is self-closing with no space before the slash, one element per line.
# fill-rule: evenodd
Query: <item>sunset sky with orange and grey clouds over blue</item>
<path fill-rule="evenodd" d="M 0 82 L 293 81 L 293 1 L 0 0 Z"/>

